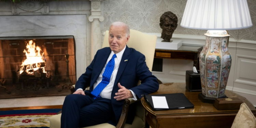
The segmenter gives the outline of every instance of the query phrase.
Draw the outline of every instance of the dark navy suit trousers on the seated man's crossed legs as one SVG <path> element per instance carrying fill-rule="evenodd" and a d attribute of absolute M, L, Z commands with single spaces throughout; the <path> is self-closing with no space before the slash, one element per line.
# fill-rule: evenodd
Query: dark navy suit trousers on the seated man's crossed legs
<path fill-rule="evenodd" d="M 61 114 L 61 128 L 79 128 L 108 123 L 115 118 L 111 100 L 93 99 L 91 94 L 66 96 Z"/>

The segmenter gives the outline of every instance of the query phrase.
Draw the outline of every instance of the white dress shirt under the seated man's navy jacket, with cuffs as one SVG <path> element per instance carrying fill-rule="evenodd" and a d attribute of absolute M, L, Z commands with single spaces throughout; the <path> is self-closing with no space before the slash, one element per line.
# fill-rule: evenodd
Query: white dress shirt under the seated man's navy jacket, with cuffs
<path fill-rule="evenodd" d="M 126 46 L 125 46 L 126 48 Z M 114 66 L 114 70 L 112 72 L 112 75 L 110 77 L 110 82 L 109 84 L 101 91 L 100 93 L 100 97 L 102 98 L 107 98 L 107 99 L 111 99 L 111 93 L 112 93 L 112 89 L 114 87 L 114 82 L 115 82 L 115 79 L 116 79 L 116 74 L 117 74 L 117 71 L 118 71 L 118 68 L 119 68 L 119 65 L 120 65 L 120 61 L 122 59 L 122 56 L 124 54 L 124 51 L 125 51 L 125 48 L 120 51 L 119 53 L 116 54 L 116 58 L 115 58 L 115 66 Z M 96 80 L 96 82 L 94 83 L 93 85 L 93 90 L 96 88 L 96 86 L 102 81 L 102 75 L 104 73 L 104 70 L 106 68 L 106 65 L 108 64 L 108 62 L 110 61 L 110 59 L 112 58 L 112 56 L 114 55 L 115 53 L 113 51 L 111 51 L 110 55 L 109 55 L 109 58 L 108 60 L 106 61 L 98 79 Z M 120 83 L 122 85 L 122 83 Z M 81 90 L 81 88 L 77 89 L 77 90 Z M 133 93 L 132 90 L 130 90 L 132 95 L 133 95 L 133 100 L 137 100 L 136 98 L 136 94 Z"/>

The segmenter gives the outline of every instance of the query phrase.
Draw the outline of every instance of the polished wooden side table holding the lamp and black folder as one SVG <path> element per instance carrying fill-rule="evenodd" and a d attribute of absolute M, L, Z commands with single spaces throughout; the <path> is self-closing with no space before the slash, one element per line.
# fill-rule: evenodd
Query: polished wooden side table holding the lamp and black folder
<path fill-rule="evenodd" d="M 189 92 L 185 83 L 160 84 L 159 90 L 153 94 L 183 93 L 195 106 L 192 109 L 153 111 L 144 98 L 141 99 L 145 112 L 145 127 L 149 128 L 230 128 L 238 113 L 236 110 L 217 110 L 211 103 L 203 103 L 198 99 L 201 91 Z M 244 97 L 226 90 L 229 98 L 241 99 L 256 115 L 253 104 Z"/>

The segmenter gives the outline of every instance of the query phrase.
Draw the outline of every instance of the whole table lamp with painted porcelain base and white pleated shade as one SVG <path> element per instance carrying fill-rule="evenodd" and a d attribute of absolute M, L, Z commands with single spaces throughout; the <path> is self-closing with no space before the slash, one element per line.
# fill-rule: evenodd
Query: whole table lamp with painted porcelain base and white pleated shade
<path fill-rule="evenodd" d="M 229 34 L 226 30 L 252 26 L 246 0 L 187 0 L 181 26 L 208 30 L 205 46 L 199 55 L 202 102 L 213 103 L 225 98 L 225 89 L 231 67 L 228 51 Z"/>

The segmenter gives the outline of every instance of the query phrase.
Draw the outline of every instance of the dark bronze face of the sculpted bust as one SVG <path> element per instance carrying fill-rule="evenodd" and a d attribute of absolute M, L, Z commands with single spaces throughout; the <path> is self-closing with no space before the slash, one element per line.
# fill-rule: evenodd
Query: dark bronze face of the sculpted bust
<path fill-rule="evenodd" d="M 170 18 L 168 17 L 166 17 L 165 20 L 163 20 L 163 25 L 161 26 L 161 28 L 163 29 L 163 33 L 165 34 L 172 34 L 176 27 L 177 23 L 171 21 Z"/>

